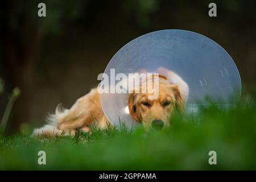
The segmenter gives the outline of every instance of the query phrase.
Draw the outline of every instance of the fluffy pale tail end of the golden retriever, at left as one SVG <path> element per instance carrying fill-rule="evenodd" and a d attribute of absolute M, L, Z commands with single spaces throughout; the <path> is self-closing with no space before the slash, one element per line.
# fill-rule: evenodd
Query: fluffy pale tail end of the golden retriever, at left
<path fill-rule="evenodd" d="M 67 115 L 68 109 L 64 109 L 61 104 L 57 105 L 55 114 L 48 114 L 46 118 L 47 125 L 34 129 L 32 137 L 56 137 L 67 135 L 68 131 L 60 130 L 58 125 Z"/>

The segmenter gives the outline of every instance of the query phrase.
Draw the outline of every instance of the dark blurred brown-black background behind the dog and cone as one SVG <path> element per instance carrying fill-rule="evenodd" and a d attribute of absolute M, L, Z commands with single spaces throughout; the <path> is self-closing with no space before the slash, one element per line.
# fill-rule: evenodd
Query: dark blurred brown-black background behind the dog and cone
<path fill-rule="evenodd" d="M 46 3 L 46 17 L 38 4 Z M 210 2 L 217 17 L 208 16 Z M 242 83 L 255 85 L 255 1 L 1 1 L 0 118 L 10 93 L 20 88 L 8 122 L 40 126 L 60 102 L 70 107 L 98 84 L 109 60 L 127 42 L 148 32 L 184 29 L 208 36 L 226 49 Z"/>

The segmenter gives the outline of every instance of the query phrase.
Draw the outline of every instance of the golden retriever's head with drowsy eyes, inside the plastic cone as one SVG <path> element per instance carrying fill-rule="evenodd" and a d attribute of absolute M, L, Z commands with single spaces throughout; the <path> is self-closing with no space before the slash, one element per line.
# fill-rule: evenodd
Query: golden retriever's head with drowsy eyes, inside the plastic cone
<path fill-rule="evenodd" d="M 154 77 L 146 80 L 155 81 Z M 135 121 L 142 122 L 146 130 L 151 126 L 156 128 L 169 126 L 174 110 L 179 109 L 181 112 L 184 110 L 184 101 L 179 86 L 170 84 L 168 78 L 161 75 L 159 75 L 156 86 L 158 89 L 152 88 L 154 92 L 158 92 L 158 97 L 155 99 L 149 99 L 148 96 L 152 94 L 152 90 L 148 89 L 146 89 L 146 93 L 134 90 L 129 96 L 128 106 L 131 117 Z M 142 87 L 141 85 L 138 89 L 141 91 Z"/>

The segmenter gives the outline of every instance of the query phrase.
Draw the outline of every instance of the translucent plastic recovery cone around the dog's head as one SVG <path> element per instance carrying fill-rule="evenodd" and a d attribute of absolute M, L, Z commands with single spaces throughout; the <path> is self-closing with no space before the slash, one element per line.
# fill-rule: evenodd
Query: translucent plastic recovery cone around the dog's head
<path fill-rule="evenodd" d="M 115 53 L 104 73 L 110 75 L 110 69 L 115 69 L 115 75 L 128 75 L 159 67 L 187 82 L 188 112 L 207 105 L 205 97 L 224 107 L 236 106 L 240 99 L 241 78 L 232 57 L 213 40 L 192 31 L 160 30 L 139 36 Z M 110 123 L 138 124 L 127 111 L 128 100 L 128 93 L 101 93 L 101 106 Z"/>

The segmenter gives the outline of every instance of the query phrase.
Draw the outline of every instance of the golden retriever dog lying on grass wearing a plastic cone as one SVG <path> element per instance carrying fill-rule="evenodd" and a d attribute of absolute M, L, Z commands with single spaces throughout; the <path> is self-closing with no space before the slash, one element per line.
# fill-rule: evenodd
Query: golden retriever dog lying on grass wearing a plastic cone
<path fill-rule="evenodd" d="M 158 89 L 151 88 L 156 92 L 156 99 L 148 99 L 152 90 L 146 88 L 146 92 L 140 92 L 144 84 L 140 84 L 129 94 L 127 103 L 131 117 L 141 122 L 145 130 L 151 127 L 162 129 L 170 125 L 170 117 L 174 109 L 184 111 L 189 88 L 187 83 L 176 73 L 158 68 L 159 76 L 146 77 L 144 81 L 155 82 Z M 161 75 L 160 75 L 161 73 Z M 153 84 L 155 85 L 155 84 Z M 155 94 L 155 93 L 154 93 Z M 59 135 L 75 135 L 76 130 L 90 131 L 90 125 L 96 125 L 105 129 L 109 125 L 101 107 L 100 93 L 97 88 L 90 90 L 88 94 L 79 98 L 70 109 L 56 107 L 54 115 L 48 119 L 48 125 L 35 129 L 34 136 L 53 137 Z"/>

